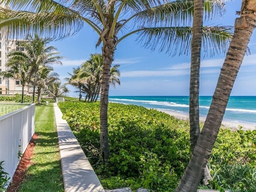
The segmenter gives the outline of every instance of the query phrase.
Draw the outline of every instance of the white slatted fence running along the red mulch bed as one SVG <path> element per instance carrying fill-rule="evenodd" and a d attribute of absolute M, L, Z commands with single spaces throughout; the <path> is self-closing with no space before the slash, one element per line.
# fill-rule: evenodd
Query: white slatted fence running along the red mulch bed
<path fill-rule="evenodd" d="M 0 117 L 0 161 L 4 171 L 13 177 L 30 139 L 35 133 L 35 104 Z"/>

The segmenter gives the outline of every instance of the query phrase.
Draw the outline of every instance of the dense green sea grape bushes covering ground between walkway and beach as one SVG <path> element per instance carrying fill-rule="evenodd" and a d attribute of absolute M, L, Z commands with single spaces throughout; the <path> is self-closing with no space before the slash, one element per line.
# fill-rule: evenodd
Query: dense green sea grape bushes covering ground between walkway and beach
<path fill-rule="evenodd" d="M 111 156 L 103 165 L 99 103 L 65 102 L 59 103 L 59 107 L 105 189 L 143 186 L 158 192 L 174 191 L 191 156 L 188 121 L 155 109 L 109 103 Z M 240 191 L 246 192 L 244 186 L 253 185 L 252 182 L 241 183 L 243 181 L 239 186 L 232 185 L 237 181 L 232 178 L 226 178 L 224 185 L 221 175 L 223 170 L 228 170 L 227 166 L 234 166 L 232 170 L 236 170 L 236 166 L 241 165 L 248 166 L 248 178 L 255 177 L 255 132 L 220 130 L 209 160 L 213 181 L 202 188 L 235 191 L 233 187 L 240 186 Z M 238 174 L 238 171 L 233 173 Z"/>

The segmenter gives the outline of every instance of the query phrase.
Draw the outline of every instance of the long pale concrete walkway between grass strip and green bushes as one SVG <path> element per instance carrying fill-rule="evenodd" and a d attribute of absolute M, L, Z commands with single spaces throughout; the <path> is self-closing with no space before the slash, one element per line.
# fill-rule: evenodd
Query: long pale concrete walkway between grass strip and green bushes
<path fill-rule="evenodd" d="M 105 192 L 57 103 L 54 112 L 65 192 Z"/>

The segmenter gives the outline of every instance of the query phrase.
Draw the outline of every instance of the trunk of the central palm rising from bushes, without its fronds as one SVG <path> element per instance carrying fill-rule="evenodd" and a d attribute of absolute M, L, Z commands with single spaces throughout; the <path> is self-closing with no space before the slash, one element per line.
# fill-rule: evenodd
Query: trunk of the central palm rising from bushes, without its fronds
<path fill-rule="evenodd" d="M 100 101 L 100 129 L 101 129 L 101 158 L 106 162 L 110 156 L 108 145 L 108 129 L 107 129 L 107 105 L 108 93 L 110 85 L 110 67 L 114 56 L 114 39 L 107 39 L 106 44 L 102 47 L 103 71 L 101 81 L 101 101 Z"/>

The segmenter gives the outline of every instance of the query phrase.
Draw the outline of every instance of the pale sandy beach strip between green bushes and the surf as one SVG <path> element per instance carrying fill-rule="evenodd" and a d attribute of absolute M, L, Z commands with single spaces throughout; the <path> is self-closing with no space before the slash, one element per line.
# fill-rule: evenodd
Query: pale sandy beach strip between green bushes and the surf
<path fill-rule="evenodd" d="M 175 116 L 176 118 L 179 119 L 184 119 L 188 120 L 189 115 L 184 114 L 184 113 L 179 113 L 179 112 L 174 112 L 174 111 L 169 111 L 169 110 L 163 110 L 163 109 L 157 109 L 158 111 L 165 112 L 169 115 Z M 205 121 L 205 117 L 199 117 L 200 121 Z M 227 128 L 232 128 L 232 129 L 237 129 L 239 126 L 243 127 L 243 130 L 256 130 L 256 124 L 248 124 L 244 122 L 234 122 L 234 121 L 222 121 L 221 123 L 224 127 Z"/>

